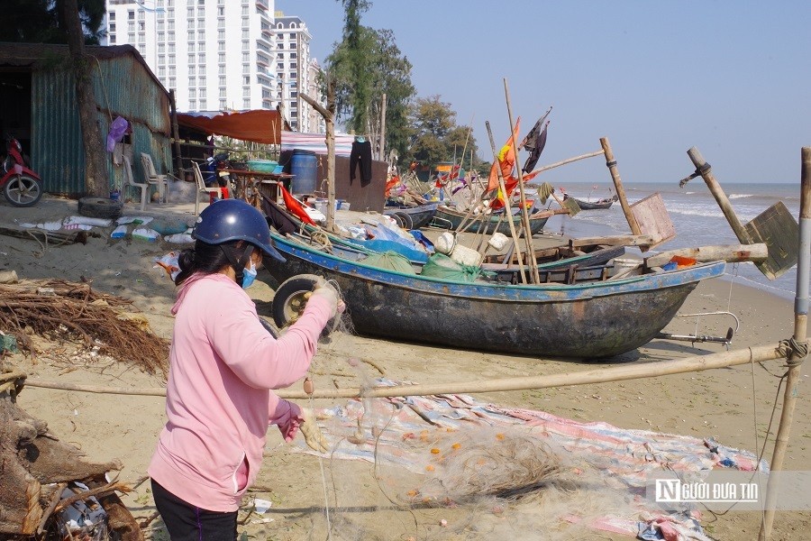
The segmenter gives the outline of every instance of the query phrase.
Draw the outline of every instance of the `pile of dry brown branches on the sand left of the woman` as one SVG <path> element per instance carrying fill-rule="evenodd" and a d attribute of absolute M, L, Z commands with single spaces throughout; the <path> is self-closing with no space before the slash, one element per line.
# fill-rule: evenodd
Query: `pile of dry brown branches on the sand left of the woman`
<path fill-rule="evenodd" d="M 90 283 L 23 280 L 0 284 L 0 321 L 33 353 L 31 334 L 54 341 L 80 340 L 150 374 L 167 373 L 169 341 L 155 335 L 132 301 L 97 293 Z"/>

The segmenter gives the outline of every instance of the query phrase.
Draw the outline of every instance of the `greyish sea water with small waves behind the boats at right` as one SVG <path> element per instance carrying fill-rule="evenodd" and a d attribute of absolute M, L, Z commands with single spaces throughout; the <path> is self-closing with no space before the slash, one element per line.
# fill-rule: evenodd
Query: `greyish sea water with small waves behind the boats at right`
<path fill-rule="evenodd" d="M 566 192 L 571 197 L 596 201 L 602 197 L 611 197 L 608 188 L 613 188 L 613 185 L 605 183 L 594 188 L 593 184 L 568 183 Z M 655 250 L 646 252 L 643 254 L 645 256 L 678 248 L 740 244 L 732 227 L 726 221 L 724 213 L 721 212 L 721 207 L 718 206 L 709 188 L 706 187 L 704 180 L 700 178 L 690 180 L 684 188 L 679 188 L 678 182 L 673 184 L 624 182 L 623 188 L 630 204 L 659 193 L 676 230 L 674 238 L 660 244 Z M 743 225 L 778 201 L 782 201 L 795 219 L 799 220 L 799 182 L 793 184 L 724 183 L 721 188 Z M 554 206 L 552 205 L 552 207 Z M 607 210 L 581 211 L 574 216 L 552 216 L 544 227 L 544 231 L 572 237 L 631 234 L 619 202 Z M 635 248 L 629 248 L 627 252 L 641 254 Z M 730 279 L 767 290 L 783 298 L 794 298 L 797 288 L 797 266 L 781 275 L 777 280 L 769 280 L 752 263 L 729 263 L 726 267 L 726 275 Z"/>

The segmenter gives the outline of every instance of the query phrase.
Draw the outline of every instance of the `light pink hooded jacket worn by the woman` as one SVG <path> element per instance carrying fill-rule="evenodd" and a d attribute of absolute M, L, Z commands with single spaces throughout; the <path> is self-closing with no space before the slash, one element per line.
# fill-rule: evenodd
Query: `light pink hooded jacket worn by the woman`
<path fill-rule="evenodd" d="M 195 274 L 178 290 L 166 389 L 167 423 L 149 474 L 189 504 L 239 509 L 262 462 L 269 424 L 287 441 L 300 409 L 271 389 L 302 378 L 330 316 L 321 298 L 278 340 L 250 297 L 224 274 Z"/>

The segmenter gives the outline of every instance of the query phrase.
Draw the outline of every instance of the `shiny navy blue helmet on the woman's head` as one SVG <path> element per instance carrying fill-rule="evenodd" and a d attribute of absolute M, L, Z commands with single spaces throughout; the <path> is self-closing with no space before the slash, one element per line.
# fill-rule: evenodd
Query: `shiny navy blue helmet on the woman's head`
<path fill-rule="evenodd" d="M 205 207 L 197 216 L 192 236 L 206 244 L 245 241 L 278 261 L 285 261 L 273 247 L 265 216 L 241 199 L 222 199 Z"/>

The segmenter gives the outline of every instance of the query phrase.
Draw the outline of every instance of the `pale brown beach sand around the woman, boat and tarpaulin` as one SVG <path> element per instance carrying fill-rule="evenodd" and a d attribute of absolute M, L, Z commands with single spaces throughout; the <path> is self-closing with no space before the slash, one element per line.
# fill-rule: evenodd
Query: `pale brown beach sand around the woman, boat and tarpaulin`
<path fill-rule="evenodd" d="M 127 206 L 125 215 L 173 216 L 193 221 L 193 204 L 150 205 L 140 213 Z M 46 222 L 77 215 L 77 202 L 43 197 L 33 208 L 21 209 L 0 202 L 0 225 Z M 44 246 L 35 240 L 0 236 L 0 270 L 14 270 L 21 279 L 92 280 L 93 288 L 129 298 L 150 322 L 156 335 L 170 338 L 174 286 L 154 260 L 178 249 L 169 243 L 100 238 L 87 244 Z M 260 271 L 249 289 L 260 315 L 269 316 L 273 289 L 267 271 Z M 275 285 L 275 284 L 273 284 Z M 793 333 L 793 306 L 779 298 L 729 280 L 710 280 L 698 286 L 680 310 L 681 314 L 730 311 L 740 319 L 732 349 L 776 344 Z M 733 325 L 729 317 L 691 316 L 674 319 L 665 330 L 676 334 L 724 335 Z M 155 388 L 164 384 L 131 365 L 114 360 L 75 355 L 77 345 L 38 340 L 31 357 L 16 354 L 5 358 L 26 371 L 32 380 L 62 381 L 115 388 Z M 582 363 L 544 360 L 529 356 L 500 355 L 442 349 L 422 344 L 388 342 L 357 335 L 337 334 L 322 344 L 312 375 L 316 389 L 359 387 L 382 375 L 396 381 L 438 383 L 488 381 L 499 377 L 556 374 L 615 366 L 633 362 L 657 362 L 689 355 L 723 351 L 722 344 L 695 344 L 654 340 L 650 344 L 608 362 Z M 349 362 L 350 359 L 370 362 Z M 355 366 L 353 366 L 353 364 Z M 477 395 L 478 399 L 505 407 L 532 408 L 579 421 L 604 421 L 622 428 L 654 430 L 668 434 L 712 437 L 715 441 L 751 452 L 765 445 L 769 460 L 777 431 L 779 403 L 773 413 L 782 362 L 742 365 L 730 369 L 671 375 L 640 381 L 584 385 L 550 390 L 525 390 Z M 375 366 L 377 365 L 377 367 Z M 378 371 L 379 368 L 379 371 Z M 381 373 L 385 372 L 385 373 Z M 786 470 L 804 470 L 811 464 L 811 403 L 806 397 L 809 369 L 802 368 L 799 399 L 788 445 Z M 296 384 L 294 389 L 300 389 Z M 318 400 L 318 408 L 345 400 Z M 96 461 L 119 459 L 120 479 L 133 485 L 146 474 L 159 430 L 164 423 L 164 400 L 113 394 L 91 394 L 27 386 L 18 404 L 48 423 L 59 439 L 76 445 Z M 306 405 L 306 404 L 303 404 Z M 774 422 L 767 435 L 770 418 Z M 768 441 L 764 441 L 768 438 Z M 275 428 L 269 430 L 266 459 L 251 496 L 272 502 L 264 515 L 244 514 L 241 531 L 251 539 L 323 539 L 323 480 L 327 481 L 333 509 L 335 539 L 492 539 L 492 538 L 606 538 L 630 536 L 570 527 L 556 530 L 553 516 L 537 514 L 537 502 L 515 504 L 510 509 L 448 509 L 404 507 L 393 497 L 410 486 L 405 473 L 391 468 L 376 470 L 373 464 L 325 461 L 322 477 L 319 461 L 284 444 Z M 390 481 L 390 482 L 389 482 Z M 382 484 L 381 484 L 382 483 Z M 388 484 L 387 484 L 388 483 Z M 334 487 L 334 488 L 333 488 Z M 149 482 L 142 482 L 123 498 L 139 520 L 154 513 Z M 560 514 L 565 513 L 565 509 Z M 547 515 L 553 511 L 547 509 Z M 534 514 L 533 514 L 534 513 Z M 446 520 L 447 525 L 441 526 Z M 761 515 L 732 510 L 724 515 L 704 514 L 702 526 L 715 539 L 754 539 Z M 549 527 L 549 530 L 539 529 Z M 811 511 L 779 512 L 774 539 L 806 539 Z M 554 531 L 544 536 L 541 531 Z M 145 533 L 152 539 L 167 539 L 159 519 Z"/>

